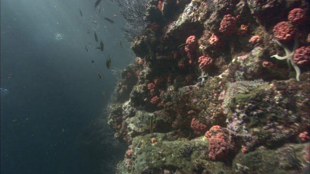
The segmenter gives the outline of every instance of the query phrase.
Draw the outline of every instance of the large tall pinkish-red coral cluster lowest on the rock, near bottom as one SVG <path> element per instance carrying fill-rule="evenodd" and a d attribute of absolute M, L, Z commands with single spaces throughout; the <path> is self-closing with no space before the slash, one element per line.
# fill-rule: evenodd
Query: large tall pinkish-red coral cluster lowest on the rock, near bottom
<path fill-rule="evenodd" d="M 204 136 L 209 141 L 209 158 L 211 160 L 223 159 L 228 155 L 228 135 L 218 125 L 213 126 Z"/>

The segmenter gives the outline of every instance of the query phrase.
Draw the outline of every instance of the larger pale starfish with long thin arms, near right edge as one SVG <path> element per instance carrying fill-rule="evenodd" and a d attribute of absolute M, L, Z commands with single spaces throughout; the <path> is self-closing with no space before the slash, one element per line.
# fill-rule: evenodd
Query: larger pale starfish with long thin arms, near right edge
<path fill-rule="evenodd" d="M 279 41 L 276 41 L 276 42 L 279 44 L 279 46 L 281 46 L 284 49 L 286 56 L 280 57 L 278 55 L 273 55 L 273 56 L 271 56 L 271 58 L 277 58 L 279 60 L 286 59 L 287 64 L 289 65 L 289 71 L 291 70 L 291 65 L 292 65 L 296 71 L 296 80 L 299 81 L 300 69 L 298 68 L 298 66 L 293 61 L 295 50 L 298 47 L 297 37 L 296 36 L 294 37 L 294 47 L 293 47 L 292 51 L 283 43 L 280 43 Z"/>

